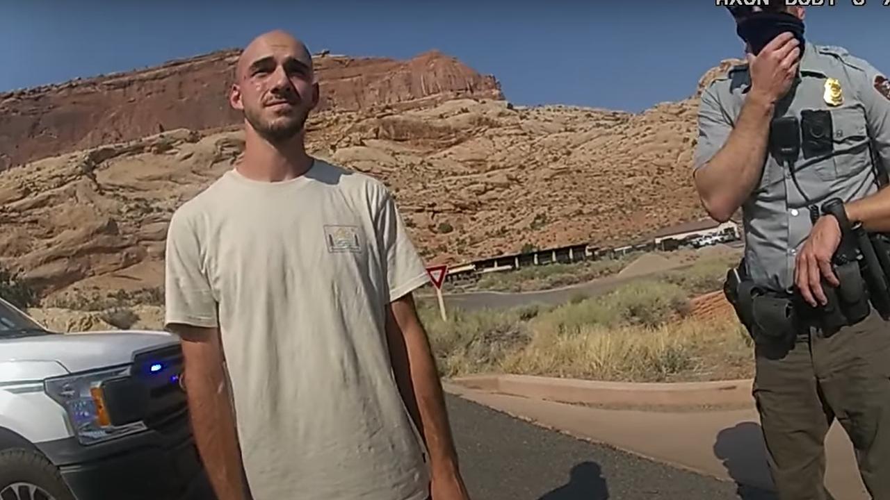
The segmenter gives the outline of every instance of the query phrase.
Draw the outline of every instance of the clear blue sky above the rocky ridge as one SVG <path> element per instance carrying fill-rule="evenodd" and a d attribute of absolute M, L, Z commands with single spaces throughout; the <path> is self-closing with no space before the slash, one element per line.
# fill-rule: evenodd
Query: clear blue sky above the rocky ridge
<path fill-rule="evenodd" d="M 883 1 L 810 7 L 807 36 L 890 73 Z M 0 90 L 240 47 L 271 28 L 313 52 L 402 59 L 438 49 L 498 77 L 517 104 L 628 111 L 683 99 L 705 70 L 741 55 L 731 18 L 708 0 L 7 0 Z"/>

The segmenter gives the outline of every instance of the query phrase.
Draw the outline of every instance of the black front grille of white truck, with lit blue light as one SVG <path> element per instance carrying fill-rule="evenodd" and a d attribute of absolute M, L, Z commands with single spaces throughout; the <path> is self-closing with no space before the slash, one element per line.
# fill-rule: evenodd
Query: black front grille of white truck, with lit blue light
<path fill-rule="evenodd" d="M 188 400 L 180 386 L 183 361 L 179 344 L 137 354 L 133 376 L 144 383 L 148 401 L 144 423 L 150 429 L 163 430 L 188 414 Z"/>

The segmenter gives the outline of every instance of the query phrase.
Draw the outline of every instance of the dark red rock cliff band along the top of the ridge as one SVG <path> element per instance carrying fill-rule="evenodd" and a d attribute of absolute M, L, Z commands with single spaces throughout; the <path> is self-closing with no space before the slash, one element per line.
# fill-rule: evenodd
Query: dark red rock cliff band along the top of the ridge
<path fill-rule="evenodd" d="M 227 93 L 239 51 L 0 93 L 0 171 L 109 142 L 239 123 Z M 457 96 L 503 99 L 494 77 L 441 52 L 412 60 L 316 56 L 320 109 L 409 108 Z"/>

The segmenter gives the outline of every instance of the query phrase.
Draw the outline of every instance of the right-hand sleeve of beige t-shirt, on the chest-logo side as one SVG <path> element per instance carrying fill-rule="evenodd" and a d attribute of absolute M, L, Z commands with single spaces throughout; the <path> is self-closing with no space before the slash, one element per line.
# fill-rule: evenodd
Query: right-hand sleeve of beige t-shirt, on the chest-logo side
<path fill-rule="evenodd" d="M 417 248 L 405 230 L 405 223 L 392 193 L 383 190 L 376 214 L 376 232 L 380 239 L 390 302 L 424 286 L 429 280 Z"/>

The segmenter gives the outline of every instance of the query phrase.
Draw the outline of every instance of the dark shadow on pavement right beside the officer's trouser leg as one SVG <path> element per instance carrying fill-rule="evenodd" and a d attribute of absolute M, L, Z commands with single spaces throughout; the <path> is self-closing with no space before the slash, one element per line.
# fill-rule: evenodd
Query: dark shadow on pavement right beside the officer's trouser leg
<path fill-rule="evenodd" d="M 735 481 L 741 500 L 777 500 L 766 463 L 763 431 L 759 423 L 743 422 L 717 434 L 714 456 Z"/>

